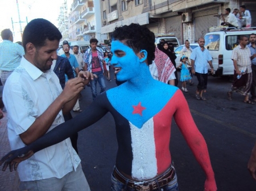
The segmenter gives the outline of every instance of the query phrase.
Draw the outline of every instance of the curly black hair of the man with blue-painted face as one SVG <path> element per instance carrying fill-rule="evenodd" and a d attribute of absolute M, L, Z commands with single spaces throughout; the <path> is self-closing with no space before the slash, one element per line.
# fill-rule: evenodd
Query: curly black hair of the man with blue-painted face
<path fill-rule="evenodd" d="M 147 63 L 150 65 L 155 59 L 155 35 L 147 27 L 131 23 L 129 26 L 115 27 L 112 40 L 126 40 L 135 53 L 147 51 Z"/>

